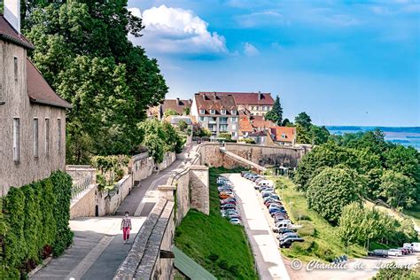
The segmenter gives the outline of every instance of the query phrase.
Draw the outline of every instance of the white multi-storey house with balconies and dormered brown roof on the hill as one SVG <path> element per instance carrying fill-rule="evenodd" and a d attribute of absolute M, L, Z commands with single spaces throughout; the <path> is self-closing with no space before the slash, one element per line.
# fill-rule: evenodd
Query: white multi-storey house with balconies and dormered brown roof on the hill
<path fill-rule="evenodd" d="M 239 114 L 232 96 L 197 93 L 192 100 L 191 116 L 202 128 L 208 128 L 212 136 L 229 133 L 232 139 L 237 139 Z"/>

